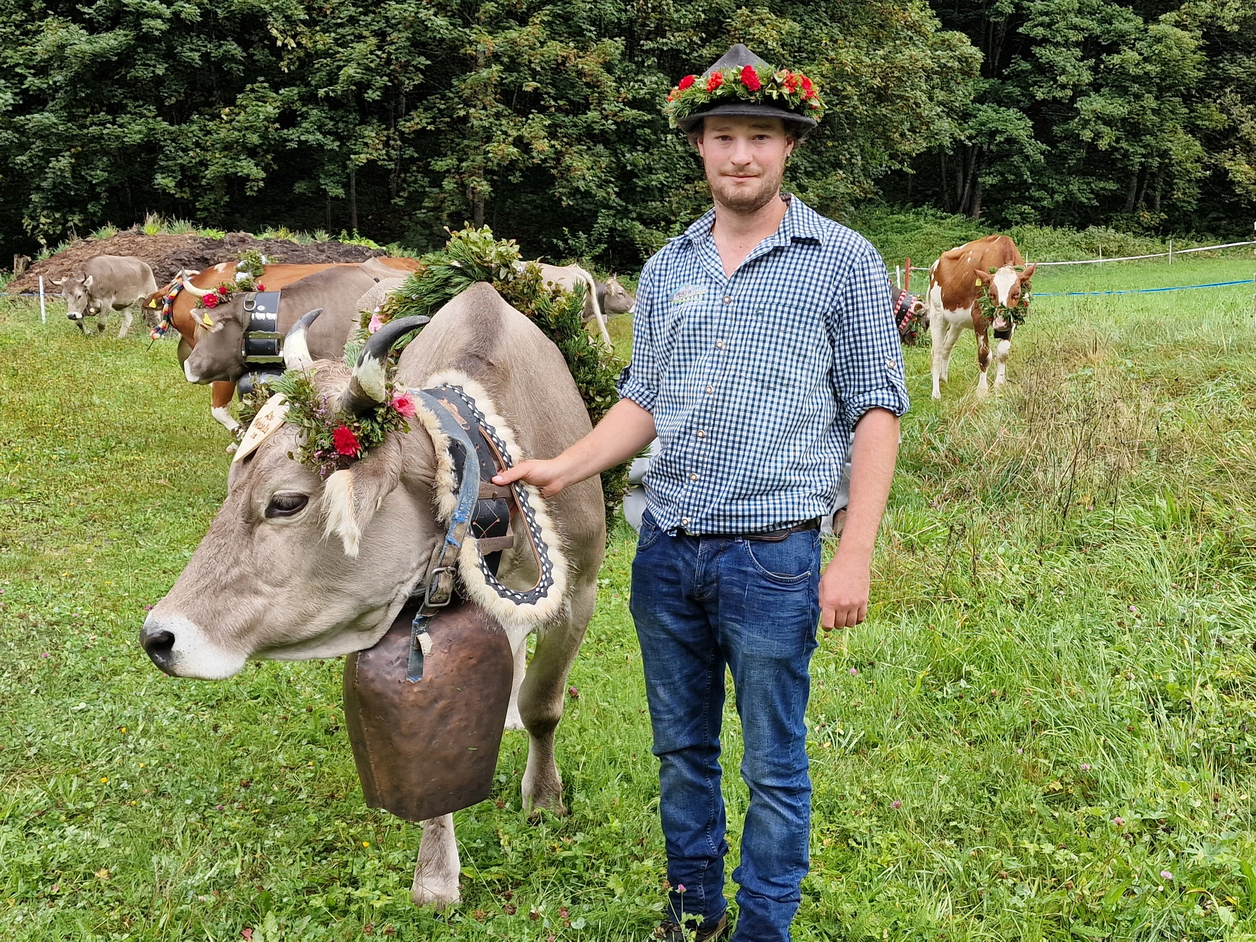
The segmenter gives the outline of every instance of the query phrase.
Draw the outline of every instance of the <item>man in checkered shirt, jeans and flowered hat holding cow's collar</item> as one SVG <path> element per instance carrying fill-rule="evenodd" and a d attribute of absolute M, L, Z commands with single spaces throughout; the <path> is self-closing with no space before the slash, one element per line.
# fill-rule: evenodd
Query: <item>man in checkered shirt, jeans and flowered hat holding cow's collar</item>
<path fill-rule="evenodd" d="M 808 870 L 815 625 L 855 625 L 868 610 L 908 407 L 903 359 L 880 257 L 780 192 L 790 153 L 823 113 L 814 83 L 736 45 L 668 102 L 715 207 L 642 273 L 620 401 L 558 457 L 495 481 L 554 494 L 657 433 L 632 580 L 671 883 L 656 937 L 679 942 L 686 922 L 701 942 L 728 933 L 718 761 L 727 668 L 750 788 L 732 939 L 777 942 L 789 939 Z M 845 529 L 821 578 L 819 522 L 833 515 L 848 451 Z"/>

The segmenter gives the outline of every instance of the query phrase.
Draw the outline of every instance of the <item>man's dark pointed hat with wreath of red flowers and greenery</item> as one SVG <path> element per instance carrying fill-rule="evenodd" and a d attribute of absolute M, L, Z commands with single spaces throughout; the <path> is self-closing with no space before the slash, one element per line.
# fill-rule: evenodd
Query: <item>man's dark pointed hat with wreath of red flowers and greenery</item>
<path fill-rule="evenodd" d="M 692 133 L 717 114 L 781 118 L 805 134 L 824 117 L 816 83 L 801 72 L 775 69 L 737 43 L 701 75 L 686 75 L 663 106 L 672 127 Z"/>

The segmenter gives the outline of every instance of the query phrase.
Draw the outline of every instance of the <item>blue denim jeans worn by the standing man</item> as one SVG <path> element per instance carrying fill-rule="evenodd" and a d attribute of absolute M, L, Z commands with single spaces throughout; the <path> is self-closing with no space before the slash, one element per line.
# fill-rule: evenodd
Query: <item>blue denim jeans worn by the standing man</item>
<path fill-rule="evenodd" d="M 815 651 L 820 534 L 779 543 L 687 536 L 647 511 L 632 615 L 659 770 L 671 918 L 718 919 L 723 899 L 720 723 L 725 667 L 745 739 L 750 808 L 741 834 L 736 942 L 788 941 L 811 829 L 804 713 Z M 685 887 L 683 893 L 679 891 Z"/>

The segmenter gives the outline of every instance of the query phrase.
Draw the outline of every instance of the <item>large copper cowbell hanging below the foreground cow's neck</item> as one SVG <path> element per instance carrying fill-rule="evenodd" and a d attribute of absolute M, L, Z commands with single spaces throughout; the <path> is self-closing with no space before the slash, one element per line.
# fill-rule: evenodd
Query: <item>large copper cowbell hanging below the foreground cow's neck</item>
<path fill-rule="evenodd" d="M 423 679 L 409 683 L 412 615 L 347 658 L 344 715 L 367 805 L 423 821 L 489 798 L 514 658 L 492 615 L 455 603 L 432 618 Z"/>

